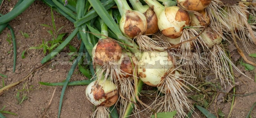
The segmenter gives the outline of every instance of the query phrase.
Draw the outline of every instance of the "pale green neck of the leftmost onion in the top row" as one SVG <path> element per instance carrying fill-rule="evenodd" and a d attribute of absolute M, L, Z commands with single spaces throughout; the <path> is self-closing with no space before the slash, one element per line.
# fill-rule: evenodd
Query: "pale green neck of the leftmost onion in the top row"
<path fill-rule="evenodd" d="M 117 4 L 118 10 L 123 16 L 127 10 L 132 10 L 126 0 L 114 0 Z"/>

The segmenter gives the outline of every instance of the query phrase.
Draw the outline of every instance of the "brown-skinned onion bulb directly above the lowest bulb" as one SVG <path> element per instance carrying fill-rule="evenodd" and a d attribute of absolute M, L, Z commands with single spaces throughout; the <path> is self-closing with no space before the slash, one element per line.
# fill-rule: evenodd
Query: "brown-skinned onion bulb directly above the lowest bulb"
<path fill-rule="evenodd" d="M 96 44 L 93 52 L 93 61 L 96 64 L 103 65 L 108 61 L 119 60 L 122 55 L 122 48 L 113 39 L 102 39 Z"/>

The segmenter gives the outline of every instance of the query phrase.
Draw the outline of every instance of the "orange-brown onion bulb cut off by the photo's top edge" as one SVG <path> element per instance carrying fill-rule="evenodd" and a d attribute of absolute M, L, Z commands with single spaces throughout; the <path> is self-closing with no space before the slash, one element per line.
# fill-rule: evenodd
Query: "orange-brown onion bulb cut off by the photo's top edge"
<path fill-rule="evenodd" d="M 205 9 L 211 0 L 177 0 L 177 2 L 186 10 L 199 11 Z"/>

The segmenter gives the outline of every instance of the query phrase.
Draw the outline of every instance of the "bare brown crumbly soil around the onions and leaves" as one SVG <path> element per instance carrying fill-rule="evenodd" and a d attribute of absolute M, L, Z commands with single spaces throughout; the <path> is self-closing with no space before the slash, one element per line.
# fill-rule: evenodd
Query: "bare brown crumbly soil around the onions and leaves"
<path fill-rule="evenodd" d="M 18 0 L 4 1 L 1 13 L 8 12 Z M 49 28 L 40 26 L 40 24 L 51 25 L 51 9 L 41 1 L 35 1 L 26 11 L 16 17 L 9 24 L 14 28 L 17 42 L 17 62 L 16 71 L 13 73 L 13 46 L 6 41 L 7 34 L 10 31 L 6 28 L 2 34 L 0 34 L 0 73 L 8 76 L 7 78 L 0 77 L 1 81 L 4 79 L 4 83 L 9 85 L 13 82 L 23 79 L 32 69 L 41 66 L 41 59 L 45 56 L 42 49 L 30 49 L 29 47 L 38 46 L 42 43 L 42 39 L 50 41 L 51 36 L 46 30 Z M 65 17 L 61 16 L 54 11 L 56 27 L 64 28 L 60 31 L 61 33 L 70 34 L 74 27 L 73 23 L 68 21 Z M 29 34 L 29 38 L 24 38 L 20 31 Z M 70 45 L 79 47 L 80 41 L 74 38 Z M 256 53 L 255 45 L 250 45 L 250 53 Z M 21 58 L 21 53 L 27 50 L 25 53 L 26 58 Z M 62 51 L 68 53 L 69 48 L 65 47 Z M 253 62 L 256 62 L 255 58 L 247 58 Z M 7 118 L 35 118 L 39 117 L 44 109 L 48 106 L 55 87 L 52 86 L 41 86 L 38 82 L 61 82 L 66 79 L 67 73 L 72 65 L 68 59 L 64 61 L 55 61 L 50 65 L 47 65 L 43 69 L 35 72 L 26 82 L 22 82 L 18 86 L 7 91 L 3 96 L 0 96 L 0 108 L 6 105 L 5 111 L 10 111 L 18 114 L 18 116 L 4 114 Z M 248 77 L 255 78 L 253 71 L 245 71 L 245 68 L 238 64 L 238 68 L 242 70 Z M 235 71 L 237 77 L 236 82 L 240 82 L 236 86 L 237 94 L 249 94 L 256 90 L 256 83 Z M 76 68 L 70 81 L 84 80 L 86 77 L 82 76 L 79 70 Z M 25 84 L 27 83 L 27 84 Z M 17 104 L 16 94 L 18 90 L 21 90 L 25 85 L 25 89 L 31 88 L 29 92 L 25 91 L 29 97 L 21 105 Z M 2 87 L 2 84 L 0 85 Z M 61 94 L 61 86 L 56 87 L 51 106 L 45 114 L 45 118 L 56 118 L 58 115 L 59 99 Z M 93 105 L 85 97 L 86 86 L 68 86 L 63 98 L 61 118 L 89 118 L 92 115 Z M 22 94 L 21 94 L 22 96 Z M 144 102 L 149 102 L 146 99 L 142 99 Z M 252 94 L 249 96 L 237 96 L 235 99 L 235 106 L 233 108 L 231 118 L 244 118 L 253 103 L 256 102 L 256 95 Z M 221 109 L 228 116 L 230 112 L 231 101 L 227 102 L 213 102 L 208 110 L 217 116 L 218 109 Z M 253 109 L 254 111 L 255 109 Z M 204 116 L 196 110 L 193 114 L 196 118 L 203 118 Z M 148 115 L 145 115 L 149 117 Z M 252 118 L 256 117 L 254 112 L 251 113 Z"/>

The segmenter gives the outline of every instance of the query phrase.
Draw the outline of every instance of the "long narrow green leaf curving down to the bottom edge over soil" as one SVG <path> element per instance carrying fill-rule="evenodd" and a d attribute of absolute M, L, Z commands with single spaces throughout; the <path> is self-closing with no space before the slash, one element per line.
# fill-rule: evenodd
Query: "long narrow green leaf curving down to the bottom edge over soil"
<path fill-rule="evenodd" d="M 68 71 L 67 79 L 64 82 L 64 85 L 63 85 L 63 88 L 62 88 L 62 91 L 61 91 L 61 95 L 60 95 L 60 104 L 59 104 L 58 118 L 60 117 L 61 106 L 62 106 L 62 101 L 63 101 L 63 96 L 64 96 L 64 93 L 65 93 L 65 90 L 67 88 L 68 82 L 69 82 L 69 80 L 70 80 L 70 78 L 71 78 L 75 68 L 77 67 L 78 62 L 82 59 L 84 46 L 85 45 L 82 42 L 81 46 L 80 46 L 80 49 L 79 49 L 79 55 L 78 55 L 77 59 L 75 60 L 75 62 L 72 64 L 71 69 Z"/>

